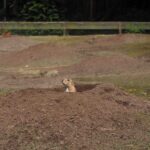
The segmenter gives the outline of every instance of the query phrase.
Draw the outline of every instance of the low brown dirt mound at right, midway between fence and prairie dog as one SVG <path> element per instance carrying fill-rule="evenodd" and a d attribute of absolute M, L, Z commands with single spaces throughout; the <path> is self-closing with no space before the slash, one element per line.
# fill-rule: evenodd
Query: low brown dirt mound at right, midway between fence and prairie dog
<path fill-rule="evenodd" d="M 141 69 L 141 63 L 137 59 L 125 55 L 95 56 L 74 64 L 60 68 L 62 73 L 71 74 L 93 74 L 93 73 L 120 73 Z"/>

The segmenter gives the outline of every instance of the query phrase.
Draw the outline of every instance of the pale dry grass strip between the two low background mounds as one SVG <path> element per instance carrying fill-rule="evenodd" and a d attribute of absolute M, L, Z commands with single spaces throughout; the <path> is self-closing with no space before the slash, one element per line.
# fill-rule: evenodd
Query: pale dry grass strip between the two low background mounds
<path fill-rule="evenodd" d="M 44 58 L 44 59 L 38 59 L 38 60 L 31 60 L 28 63 L 24 63 L 24 64 L 18 65 L 16 67 L 0 65 L 0 71 L 6 72 L 6 73 L 10 73 L 10 72 L 23 73 L 23 72 L 26 72 L 27 74 L 39 74 L 39 70 L 42 68 L 53 69 L 56 67 L 71 66 L 71 65 L 74 65 L 76 63 L 79 63 L 82 59 L 83 58 L 81 55 L 67 56 L 67 57 L 64 56 L 64 57 L 59 57 L 58 59 L 56 59 L 56 58 L 51 58 L 51 59 Z M 28 67 L 26 68 L 26 66 L 28 66 Z"/>

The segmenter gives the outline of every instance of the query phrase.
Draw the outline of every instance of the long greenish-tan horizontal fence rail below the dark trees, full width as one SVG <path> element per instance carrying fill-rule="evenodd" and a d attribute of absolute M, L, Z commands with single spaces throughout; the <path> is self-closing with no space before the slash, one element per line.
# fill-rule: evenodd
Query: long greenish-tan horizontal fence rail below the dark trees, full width
<path fill-rule="evenodd" d="M 150 30 L 150 22 L 0 22 L 0 30 L 123 30 L 138 27 Z"/>

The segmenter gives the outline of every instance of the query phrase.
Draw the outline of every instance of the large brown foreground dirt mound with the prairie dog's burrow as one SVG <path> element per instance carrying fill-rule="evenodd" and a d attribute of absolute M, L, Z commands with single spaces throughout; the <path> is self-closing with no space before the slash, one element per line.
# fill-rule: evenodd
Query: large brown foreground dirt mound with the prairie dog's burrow
<path fill-rule="evenodd" d="M 116 150 L 148 145 L 148 102 L 113 85 L 77 89 L 80 92 L 27 89 L 0 97 L 0 149 Z"/>

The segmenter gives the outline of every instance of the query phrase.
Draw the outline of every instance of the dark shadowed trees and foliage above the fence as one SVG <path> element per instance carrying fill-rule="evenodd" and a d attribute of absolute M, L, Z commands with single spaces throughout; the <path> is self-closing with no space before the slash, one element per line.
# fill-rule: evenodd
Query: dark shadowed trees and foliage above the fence
<path fill-rule="evenodd" d="M 149 0 L 0 1 L 0 20 L 150 21 L 149 14 Z"/>

